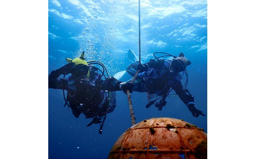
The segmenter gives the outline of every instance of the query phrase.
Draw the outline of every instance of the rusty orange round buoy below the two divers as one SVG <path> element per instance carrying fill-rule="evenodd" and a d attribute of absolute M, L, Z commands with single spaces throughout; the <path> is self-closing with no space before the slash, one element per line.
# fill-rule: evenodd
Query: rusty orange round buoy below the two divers
<path fill-rule="evenodd" d="M 151 118 L 128 128 L 108 159 L 207 159 L 207 134 L 175 118 Z"/>

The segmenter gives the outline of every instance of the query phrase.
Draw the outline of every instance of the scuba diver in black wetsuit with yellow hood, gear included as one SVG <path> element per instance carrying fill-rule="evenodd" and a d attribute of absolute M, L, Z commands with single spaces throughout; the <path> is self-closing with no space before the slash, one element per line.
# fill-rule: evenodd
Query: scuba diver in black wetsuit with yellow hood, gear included
<path fill-rule="evenodd" d="M 85 118 L 93 118 L 92 124 L 99 124 L 99 133 L 102 133 L 102 127 L 106 119 L 106 114 L 114 111 L 116 107 L 116 94 L 114 91 L 123 90 L 126 92 L 129 88 L 121 84 L 114 77 L 106 77 L 105 66 L 98 61 L 86 62 L 84 58 L 85 52 L 76 59 L 66 59 L 68 64 L 65 64 L 57 70 L 53 70 L 48 76 L 48 88 L 60 89 L 67 91 L 64 100 L 64 107 L 67 105 L 72 114 L 78 118 L 81 113 Z M 94 66 L 98 64 L 103 70 Z M 65 75 L 70 75 L 65 78 Z M 60 75 L 63 78 L 59 78 Z M 105 79 L 101 79 L 101 77 Z M 121 84 L 121 85 L 120 85 Z M 103 118 L 103 121 L 101 121 Z"/>

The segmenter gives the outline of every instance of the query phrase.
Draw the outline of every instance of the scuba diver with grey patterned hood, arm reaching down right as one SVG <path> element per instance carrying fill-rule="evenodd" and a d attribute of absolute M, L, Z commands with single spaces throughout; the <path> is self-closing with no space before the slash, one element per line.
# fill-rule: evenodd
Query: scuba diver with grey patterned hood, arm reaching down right
<path fill-rule="evenodd" d="M 160 57 L 155 56 L 157 53 L 165 54 L 161 57 L 169 58 L 167 60 L 159 59 Z M 134 76 L 138 70 L 140 73 L 138 73 L 134 84 L 127 82 L 124 85 L 132 88 L 132 91 L 148 93 L 148 104 L 146 108 L 149 108 L 161 98 L 159 102 L 155 103 L 155 106 L 158 110 L 162 110 L 162 107 L 166 104 L 165 98 L 167 96 L 179 95 L 180 99 L 188 106 L 192 116 L 196 118 L 199 115 L 205 116 L 202 111 L 196 109 L 194 96 L 186 89 L 188 83 L 186 67 L 190 65 L 191 62 L 184 57 L 183 53 L 180 53 L 179 57 L 176 57 L 167 53 L 156 52 L 154 56 L 156 59 L 151 59 L 148 63 L 139 64 L 135 62 L 130 64 L 127 68 L 127 72 L 131 76 Z M 179 72 L 183 72 L 187 75 L 185 89 L 181 83 L 182 75 Z M 176 94 L 170 95 L 172 90 L 174 90 Z"/>

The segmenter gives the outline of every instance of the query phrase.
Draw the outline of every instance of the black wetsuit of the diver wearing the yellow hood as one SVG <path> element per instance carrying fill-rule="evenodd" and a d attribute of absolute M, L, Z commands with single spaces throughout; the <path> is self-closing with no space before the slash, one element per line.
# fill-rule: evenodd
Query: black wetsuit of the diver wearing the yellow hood
<path fill-rule="evenodd" d="M 114 91 L 121 90 L 120 81 L 114 77 L 102 80 L 101 74 L 91 71 L 89 79 L 86 76 L 75 77 L 73 74 L 68 78 L 59 78 L 61 74 L 64 74 L 62 68 L 52 71 L 48 78 L 48 87 L 67 91 L 66 101 L 76 118 L 81 113 L 86 118 L 94 118 L 114 111 L 116 107 Z"/>

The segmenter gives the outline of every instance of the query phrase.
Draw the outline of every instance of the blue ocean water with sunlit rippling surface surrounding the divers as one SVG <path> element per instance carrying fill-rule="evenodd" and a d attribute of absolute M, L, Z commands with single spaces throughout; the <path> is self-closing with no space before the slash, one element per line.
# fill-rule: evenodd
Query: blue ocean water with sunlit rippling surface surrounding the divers
<path fill-rule="evenodd" d="M 128 66 L 128 49 L 138 55 L 137 0 L 49 0 L 48 73 L 77 58 L 102 62 L 110 76 Z M 187 67 L 188 86 L 197 109 L 205 117 L 194 118 L 178 96 L 167 98 L 161 111 L 147 104 L 146 93 L 131 94 L 136 123 L 151 117 L 183 119 L 207 133 L 207 1 L 141 0 L 141 60 L 154 52 L 192 62 Z M 186 79 L 186 78 L 185 78 Z M 185 80 L 184 80 L 185 81 Z M 183 82 L 184 82 L 183 81 Z M 62 90 L 49 89 L 49 159 L 106 159 L 118 137 L 131 121 L 127 95 L 117 93 L 117 107 L 107 114 L 103 133 L 99 125 L 86 127 L 91 119 L 75 118 L 64 107 Z"/>

